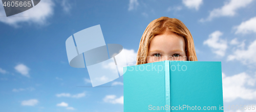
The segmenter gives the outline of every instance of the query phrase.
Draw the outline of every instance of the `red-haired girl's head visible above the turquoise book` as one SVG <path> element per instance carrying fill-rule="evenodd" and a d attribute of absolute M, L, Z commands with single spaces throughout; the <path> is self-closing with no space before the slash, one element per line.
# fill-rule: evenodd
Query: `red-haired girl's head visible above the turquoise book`
<path fill-rule="evenodd" d="M 137 65 L 173 61 L 197 61 L 193 37 L 176 18 L 160 17 L 147 25 L 139 45 Z"/>

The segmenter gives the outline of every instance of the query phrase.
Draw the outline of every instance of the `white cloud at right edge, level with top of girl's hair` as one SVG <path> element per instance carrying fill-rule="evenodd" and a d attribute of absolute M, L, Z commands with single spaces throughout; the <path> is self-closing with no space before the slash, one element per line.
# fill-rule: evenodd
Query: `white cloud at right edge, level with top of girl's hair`
<path fill-rule="evenodd" d="M 234 29 L 237 30 L 236 34 L 256 33 L 256 17 L 250 18 L 238 26 L 234 26 Z"/>

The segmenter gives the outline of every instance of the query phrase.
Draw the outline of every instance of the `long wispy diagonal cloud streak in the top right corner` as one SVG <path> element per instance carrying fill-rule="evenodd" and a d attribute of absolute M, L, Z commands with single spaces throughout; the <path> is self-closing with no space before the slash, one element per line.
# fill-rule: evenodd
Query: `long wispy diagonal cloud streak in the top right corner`
<path fill-rule="evenodd" d="M 221 8 L 212 10 L 206 19 L 202 18 L 200 21 L 211 21 L 213 18 L 221 16 L 234 16 L 238 9 L 246 7 L 252 1 L 253 0 L 230 0 L 229 2 L 226 2 L 225 5 Z"/>

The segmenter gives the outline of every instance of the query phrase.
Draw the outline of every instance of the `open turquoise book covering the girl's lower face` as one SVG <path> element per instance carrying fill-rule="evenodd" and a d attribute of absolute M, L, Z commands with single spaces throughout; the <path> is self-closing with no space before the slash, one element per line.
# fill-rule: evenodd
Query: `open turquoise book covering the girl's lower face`
<path fill-rule="evenodd" d="M 162 61 L 123 70 L 124 112 L 224 111 L 221 62 Z"/>

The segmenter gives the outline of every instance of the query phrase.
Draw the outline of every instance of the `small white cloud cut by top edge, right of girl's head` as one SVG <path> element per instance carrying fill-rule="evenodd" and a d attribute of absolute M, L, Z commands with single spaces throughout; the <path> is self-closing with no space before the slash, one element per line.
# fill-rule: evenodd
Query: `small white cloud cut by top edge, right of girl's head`
<path fill-rule="evenodd" d="M 199 7 L 203 4 L 203 0 L 182 0 L 182 3 L 189 9 L 199 10 Z"/>

